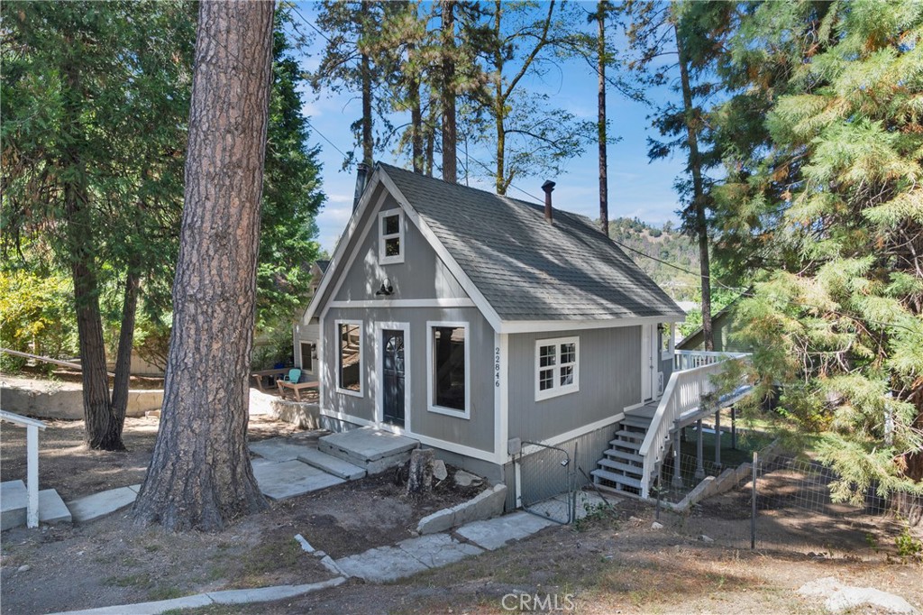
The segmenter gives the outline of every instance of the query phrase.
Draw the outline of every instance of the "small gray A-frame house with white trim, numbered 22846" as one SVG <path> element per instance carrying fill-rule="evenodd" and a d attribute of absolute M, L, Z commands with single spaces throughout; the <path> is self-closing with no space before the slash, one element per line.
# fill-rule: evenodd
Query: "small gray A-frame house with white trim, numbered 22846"
<path fill-rule="evenodd" d="M 588 219 L 378 163 L 297 325 L 318 323 L 319 412 L 516 484 L 580 444 L 595 467 L 673 369 L 681 309 Z M 510 489 L 512 491 L 512 489 Z"/>

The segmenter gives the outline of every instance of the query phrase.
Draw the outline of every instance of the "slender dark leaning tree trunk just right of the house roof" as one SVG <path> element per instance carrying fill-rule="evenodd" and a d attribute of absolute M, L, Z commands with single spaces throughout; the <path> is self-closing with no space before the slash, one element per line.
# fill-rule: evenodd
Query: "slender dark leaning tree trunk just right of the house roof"
<path fill-rule="evenodd" d="M 699 266 L 701 271 L 701 332 L 705 350 L 714 350 L 712 334 L 712 278 L 708 257 L 708 226 L 705 221 L 705 187 L 701 177 L 699 139 L 692 125 L 692 88 L 689 85 L 689 59 L 683 49 L 677 24 L 673 24 L 679 55 L 679 82 L 683 91 L 683 111 L 686 114 L 686 142 L 689 145 L 689 171 L 692 174 L 692 207 L 695 210 L 695 232 L 699 240 Z"/>

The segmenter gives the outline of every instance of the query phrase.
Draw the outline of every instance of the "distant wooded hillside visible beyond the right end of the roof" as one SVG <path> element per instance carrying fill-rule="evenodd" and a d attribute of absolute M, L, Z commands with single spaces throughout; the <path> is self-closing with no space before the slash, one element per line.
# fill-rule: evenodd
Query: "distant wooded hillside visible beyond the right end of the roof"
<path fill-rule="evenodd" d="M 681 235 L 674 229 L 671 223 L 658 227 L 641 222 L 638 218 L 616 218 L 609 221 L 609 236 L 619 244 L 648 256 L 665 260 L 688 271 L 699 271 L 698 248 L 688 236 Z M 625 252 L 675 301 L 699 300 L 697 276 L 647 259 L 637 252 Z"/>

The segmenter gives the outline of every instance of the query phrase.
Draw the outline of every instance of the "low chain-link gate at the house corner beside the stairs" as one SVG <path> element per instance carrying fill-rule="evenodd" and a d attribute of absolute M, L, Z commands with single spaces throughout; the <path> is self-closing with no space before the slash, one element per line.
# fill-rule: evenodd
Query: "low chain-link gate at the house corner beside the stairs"
<path fill-rule="evenodd" d="M 540 449 L 530 454 L 520 453 L 516 460 L 522 510 L 569 524 L 575 518 L 577 505 L 577 470 L 569 452 L 538 442 L 523 441 L 522 446 Z"/>

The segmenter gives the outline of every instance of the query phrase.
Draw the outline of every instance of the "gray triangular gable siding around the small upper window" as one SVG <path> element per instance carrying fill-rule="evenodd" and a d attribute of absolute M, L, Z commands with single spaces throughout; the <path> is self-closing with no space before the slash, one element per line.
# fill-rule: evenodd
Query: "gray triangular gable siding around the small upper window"
<path fill-rule="evenodd" d="M 429 245 L 409 216 L 403 217 L 404 261 L 388 265 L 378 264 L 378 213 L 400 209 L 390 194 L 381 209 L 371 212 L 372 227 L 358 247 L 353 267 L 347 271 L 342 286 L 335 296 L 337 301 L 372 301 L 385 278 L 390 280 L 394 293 L 390 299 L 446 299 L 468 298 L 462 285 L 446 269 L 436 251 Z"/>

